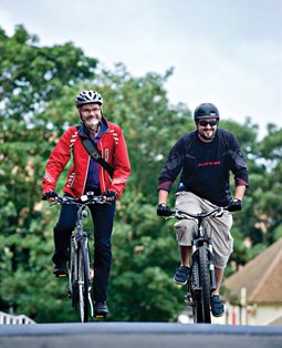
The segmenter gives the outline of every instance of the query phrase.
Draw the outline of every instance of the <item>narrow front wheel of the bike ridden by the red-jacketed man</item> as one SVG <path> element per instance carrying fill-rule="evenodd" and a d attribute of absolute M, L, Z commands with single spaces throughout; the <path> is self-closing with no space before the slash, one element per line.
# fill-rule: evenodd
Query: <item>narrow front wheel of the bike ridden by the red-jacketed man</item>
<path fill-rule="evenodd" d="M 82 245 L 79 249 L 79 311 L 82 323 L 88 321 L 90 301 L 88 301 L 88 286 L 90 286 L 90 266 L 88 254 Z"/>

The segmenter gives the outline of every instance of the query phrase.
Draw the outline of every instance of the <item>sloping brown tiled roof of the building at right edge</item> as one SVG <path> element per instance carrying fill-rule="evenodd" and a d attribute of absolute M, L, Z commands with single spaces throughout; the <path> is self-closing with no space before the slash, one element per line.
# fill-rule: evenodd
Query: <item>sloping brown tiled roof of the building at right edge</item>
<path fill-rule="evenodd" d="M 227 278 L 223 285 L 238 298 L 244 287 L 248 303 L 282 304 L 282 238 Z"/>

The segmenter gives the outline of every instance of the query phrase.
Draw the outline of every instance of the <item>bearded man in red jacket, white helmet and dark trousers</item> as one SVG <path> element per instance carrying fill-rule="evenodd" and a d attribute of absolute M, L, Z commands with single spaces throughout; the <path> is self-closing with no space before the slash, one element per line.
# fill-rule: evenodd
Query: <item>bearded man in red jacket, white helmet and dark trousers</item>
<path fill-rule="evenodd" d="M 106 289 L 112 265 L 111 236 L 115 215 L 115 201 L 126 185 L 130 174 L 130 164 L 126 142 L 119 125 L 106 121 L 103 115 L 103 99 L 96 91 L 83 91 L 75 101 L 81 119 L 80 126 L 67 129 L 53 149 L 42 181 L 42 198 L 55 201 L 55 185 L 65 165 L 73 157 L 73 164 L 63 188 L 65 195 L 80 197 L 86 192 L 103 195 L 109 204 L 91 205 L 94 224 L 94 300 L 95 315 L 106 315 Z M 113 167 L 111 177 L 107 170 L 98 164 L 82 143 L 88 137 L 105 162 Z M 54 275 L 66 275 L 70 238 L 75 227 L 76 209 L 74 205 L 63 205 L 59 222 L 54 227 L 53 255 Z"/>

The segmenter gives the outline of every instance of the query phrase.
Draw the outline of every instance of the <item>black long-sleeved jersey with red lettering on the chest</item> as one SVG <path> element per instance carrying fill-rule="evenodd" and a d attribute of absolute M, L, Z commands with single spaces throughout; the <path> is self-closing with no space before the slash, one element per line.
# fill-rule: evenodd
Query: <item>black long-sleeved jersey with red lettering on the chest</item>
<path fill-rule="evenodd" d="M 233 134 L 219 129 L 213 141 L 205 143 L 195 131 L 181 136 L 171 149 L 158 187 L 170 191 L 180 173 L 185 191 L 226 206 L 232 199 L 230 172 L 236 185 L 248 186 L 247 164 Z"/>

